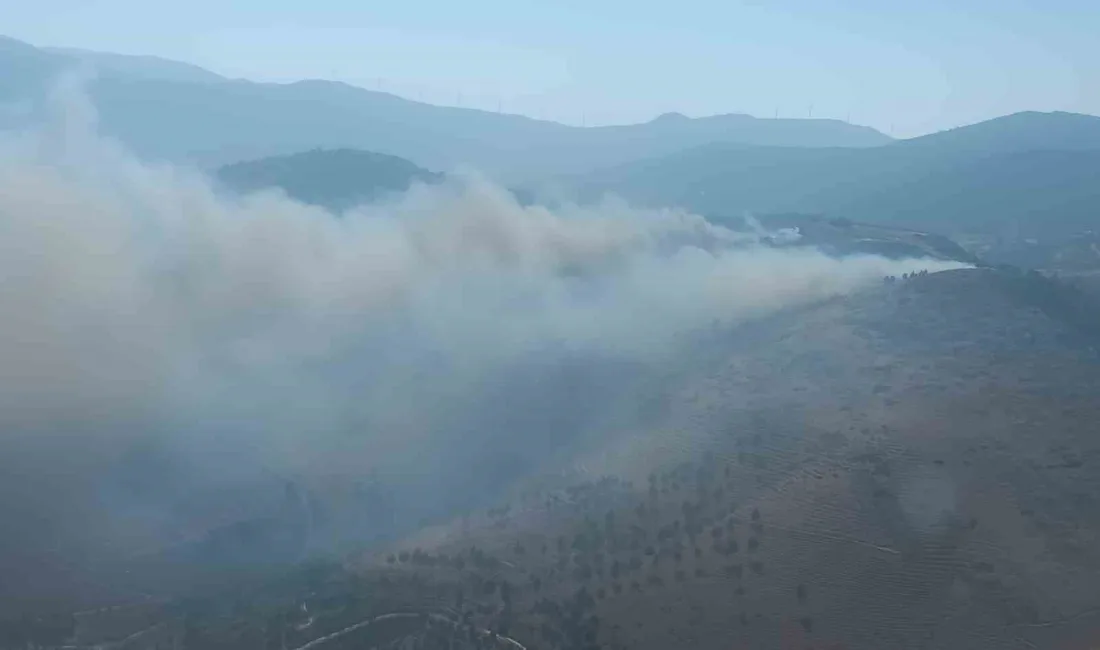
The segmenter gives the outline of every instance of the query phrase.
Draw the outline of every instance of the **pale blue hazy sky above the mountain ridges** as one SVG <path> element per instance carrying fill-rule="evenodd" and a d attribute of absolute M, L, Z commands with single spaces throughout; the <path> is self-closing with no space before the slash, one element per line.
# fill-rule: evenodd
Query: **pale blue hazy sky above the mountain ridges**
<path fill-rule="evenodd" d="M 1100 113 L 1094 0 L 0 0 L 36 45 L 329 78 L 562 122 L 747 112 L 906 136 Z"/>

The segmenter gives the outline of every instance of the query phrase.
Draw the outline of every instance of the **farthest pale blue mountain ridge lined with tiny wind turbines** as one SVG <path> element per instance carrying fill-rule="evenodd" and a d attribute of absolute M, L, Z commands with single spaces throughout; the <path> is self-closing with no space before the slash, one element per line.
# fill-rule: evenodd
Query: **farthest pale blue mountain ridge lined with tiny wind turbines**
<path fill-rule="evenodd" d="M 0 97 L 41 98 L 57 74 L 81 62 L 100 70 L 89 92 L 106 134 L 143 156 L 209 167 L 317 147 L 353 147 L 400 156 L 431 169 L 469 165 L 513 181 L 583 173 L 714 142 L 782 146 L 890 142 L 873 129 L 837 120 L 737 114 L 569 126 L 419 103 L 334 81 L 223 80 L 176 62 L 44 49 L 11 38 L 0 40 Z"/>

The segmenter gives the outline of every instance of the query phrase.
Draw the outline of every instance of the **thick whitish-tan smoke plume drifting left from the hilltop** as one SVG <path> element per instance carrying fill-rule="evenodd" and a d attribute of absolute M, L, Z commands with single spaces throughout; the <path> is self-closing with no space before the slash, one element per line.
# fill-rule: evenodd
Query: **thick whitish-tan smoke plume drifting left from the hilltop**
<path fill-rule="evenodd" d="M 96 137 L 87 107 L 62 114 L 0 155 L 0 516 L 26 520 L 9 558 L 117 541 L 128 517 L 150 543 L 184 535 L 172 504 L 263 471 L 376 472 L 461 505 L 462 463 L 564 443 L 539 422 L 590 425 L 624 376 L 554 399 L 539 368 L 660 363 L 716 319 L 945 266 L 771 249 L 673 211 L 525 208 L 471 178 L 341 216 L 226 198 Z M 517 373 L 537 388 L 509 393 Z"/>

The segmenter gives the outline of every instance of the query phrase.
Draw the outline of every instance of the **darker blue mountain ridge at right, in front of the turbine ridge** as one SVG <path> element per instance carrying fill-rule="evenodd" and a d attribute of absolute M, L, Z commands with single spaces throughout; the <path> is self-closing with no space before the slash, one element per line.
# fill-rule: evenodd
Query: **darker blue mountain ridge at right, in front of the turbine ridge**
<path fill-rule="evenodd" d="M 1100 224 L 1100 118 L 1016 113 L 869 148 L 712 144 L 559 180 L 701 213 L 801 212 L 947 233 Z"/>

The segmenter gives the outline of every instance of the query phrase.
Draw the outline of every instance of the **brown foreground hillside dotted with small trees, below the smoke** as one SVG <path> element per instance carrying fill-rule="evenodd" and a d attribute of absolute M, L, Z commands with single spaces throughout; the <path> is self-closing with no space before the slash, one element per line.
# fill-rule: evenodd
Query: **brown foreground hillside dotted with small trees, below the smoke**
<path fill-rule="evenodd" d="M 715 329 L 639 388 L 647 427 L 499 507 L 125 629 L 202 648 L 1082 647 L 1098 322 L 1058 283 L 969 269 Z"/>

